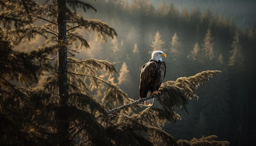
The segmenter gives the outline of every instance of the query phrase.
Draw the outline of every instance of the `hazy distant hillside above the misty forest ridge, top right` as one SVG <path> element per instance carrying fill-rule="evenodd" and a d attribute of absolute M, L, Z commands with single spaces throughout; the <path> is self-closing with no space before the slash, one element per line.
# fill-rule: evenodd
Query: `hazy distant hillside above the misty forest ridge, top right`
<path fill-rule="evenodd" d="M 128 0 L 132 1 L 132 0 Z M 249 27 L 255 22 L 256 7 L 255 0 L 160 0 L 166 4 L 173 3 L 179 11 L 186 7 L 189 11 L 198 8 L 202 13 L 207 7 L 214 14 L 222 13 L 227 18 L 234 19 L 234 22 L 243 28 L 244 25 Z M 150 0 L 153 5 L 158 8 L 160 5 L 158 0 Z"/>

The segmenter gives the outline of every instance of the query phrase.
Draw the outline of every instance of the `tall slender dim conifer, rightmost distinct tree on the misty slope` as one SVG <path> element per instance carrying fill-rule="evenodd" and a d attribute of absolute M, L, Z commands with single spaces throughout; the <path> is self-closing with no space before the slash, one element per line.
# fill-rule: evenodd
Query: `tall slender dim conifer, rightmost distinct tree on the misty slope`
<path fill-rule="evenodd" d="M 230 98 L 232 99 L 232 97 L 236 97 L 234 102 L 230 104 L 232 111 L 235 111 L 236 114 L 231 113 L 231 116 L 234 119 L 238 119 L 236 122 L 232 123 L 230 127 L 233 133 L 237 132 L 237 130 L 234 130 L 235 128 L 240 129 L 239 134 L 234 135 L 235 142 L 238 142 L 238 139 L 241 139 L 241 137 L 246 137 L 243 133 L 248 129 L 248 93 L 243 93 L 243 91 L 247 90 L 247 87 L 239 86 L 239 84 L 247 84 L 247 81 L 244 80 L 247 76 L 244 74 L 245 58 L 242 53 L 239 38 L 240 35 L 237 30 L 233 37 L 233 42 L 231 44 L 232 50 L 230 51 L 230 57 L 227 64 L 229 69 L 229 84 L 233 84 L 233 88 L 229 89 Z M 232 78 L 236 78 L 236 80 L 231 80 Z"/>

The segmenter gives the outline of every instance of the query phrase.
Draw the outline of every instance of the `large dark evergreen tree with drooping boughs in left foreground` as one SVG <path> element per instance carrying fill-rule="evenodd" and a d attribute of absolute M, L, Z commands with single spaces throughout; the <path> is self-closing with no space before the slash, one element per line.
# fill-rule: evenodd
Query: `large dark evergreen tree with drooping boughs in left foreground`
<path fill-rule="evenodd" d="M 69 6 L 74 11 L 68 9 L 66 7 L 66 3 L 69 4 Z M 6 85 L 8 85 L 7 83 L 9 83 L 9 80 L 13 80 L 15 78 L 19 81 L 24 81 L 27 84 L 36 83 L 38 81 L 38 75 L 42 74 L 43 71 L 49 71 L 49 69 L 54 69 L 53 67 L 49 66 L 49 63 L 47 63 L 46 59 L 49 60 L 49 58 L 47 58 L 47 55 L 53 53 L 54 50 L 58 52 L 57 56 L 53 58 L 58 60 L 58 69 L 56 69 L 56 73 L 51 75 L 46 80 L 43 87 L 14 88 L 14 86 L 10 83 L 9 87 L 11 88 L 6 88 L 5 86 L 1 87 L 1 94 L 3 95 L 1 95 L 3 97 L 3 105 L 13 104 L 12 102 L 14 102 L 15 99 L 10 97 L 17 97 L 16 101 L 18 103 L 22 103 L 13 105 L 13 109 L 6 106 L 6 108 L 2 110 L 2 114 L 4 116 L 9 112 L 16 112 L 16 114 L 13 113 L 11 115 L 20 117 L 20 119 L 13 119 L 13 125 L 23 125 L 22 128 L 17 127 L 16 130 L 24 133 L 18 133 L 18 136 L 24 135 L 23 138 L 14 140 L 16 139 L 16 136 L 8 136 L 8 130 L 5 129 L 4 135 L 1 136 L 1 138 L 3 138 L 1 141 L 6 142 L 5 144 L 7 145 L 18 143 L 33 144 L 36 142 L 42 145 L 69 145 L 70 142 L 72 142 L 72 136 L 76 136 L 74 135 L 74 133 L 76 133 L 75 128 L 77 128 L 77 126 L 73 128 L 71 127 L 72 124 L 76 125 L 75 121 L 77 121 L 78 117 L 75 117 L 73 115 L 78 114 L 79 112 L 82 112 L 82 115 L 89 114 L 85 110 L 81 111 L 81 108 L 79 109 L 79 107 L 77 107 L 77 103 L 74 101 L 72 102 L 72 100 L 74 98 L 76 98 L 77 100 L 77 98 L 84 99 L 85 97 L 91 97 L 89 97 L 88 95 L 85 96 L 85 93 L 87 93 L 86 84 L 84 84 L 84 82 L 80 78 L 75 77 L 77 74 L 73 72 L 73 69 L 75 68 L 72 67 L 76 66 L 72 65 L 70 66 L 70 69 L 68 69 L 68 63 L 75 63 L 78 66 L 80 64 L 85 67 L 85 70 L 87 70 L 86 66 L 83 65 L 86 64 L 87 66 L 90 66 L 89 68 L 94 69 L 89 69 L 88 72 L 85 72 L 88 73 L 88 76 L 94 75 L 94 78 L 93 76 L 91 76 L 92 78 L 90 86 L 98 84 L 99 82 L 97 80 L 93 80 L 96 77 L 98 67 L 105 68 L 110 72 L 115 72 L 115 68 L 113 68 L 112 64 L 104 61 L 78 61 L 72 58 L 68 59 L 67 44 L 72 44 L 75 49 L 78 48 L 78 46 L 76 45 L 77 43 L 80 44 L 81 48 L 89 47 L 88 42 L 83 39 L 83 37 L 79 35 L 79 33 L 75 32 L 75 30 L 79 28 L 83 28 L 87 31 L 90 31 L 91 29 L 96 31 L 98 33 L 97 36 L 100 38 L 101 42 L 106 41 L 105 35 L 113 38 L 117 34 L 114 29 L 99 20 L 87 20 L 81 17 L 81 15 L 76 15 L 76 8 L 79 7 L 81 7 L 84 11 L 86 9 L 93 9 L 94 11 L 96 11 L 96 9 L 94 9 L 90 4 L 87 4 L 85 2 L 73 0 L 69 0 L 67 2 L 62 0 L 54 0 L 52 3 L 46 1 L 43 4 L 38 4 L 30 0 L 20 0 L 10 2 L 1 1 L 1 4 L 2 9 L 0 18 L 1 23 L 4 24 L 4 31 L 2 34 L 3 36 L 1 37 L 1 41 L 10 42 L 9 44 L 12 44 L 14 46 L 20 44 L 21 41 L 29 41 L 36 35 L 42 35 L 47 40 L 45 42 L 45 45 L 49 45 L 49 43 L 52 43 L 51 47 L 43 46 L 42 49 L 38 51 L 32 51 L 28 54 L 17 52 L 15 53 L 16 55 L 14 55 L 14 52 L 11 51 L 9 47 L 9 52 L 7 52 L 6 55 L 8 56 L 13 54 L 13 58 L 18 59 L 16 59 L 16 62 L 18 61 L 17 64 L 20 67 L 18 67 L 18 70 L 15 68 L 10 68 L 10 73 L 7 74 L 11 75 L 11 72 L 16 72 L 15 74 L 11 75 L 11 78 L 5 75 L 3 76 L 2 79 L 6 82 Z M 16 7 L 17 11 L 13 11 L 13 7 Z M 33 25 L 38 20 L 43 20 L 46 23 L 43 23 L 42 26 Z M 15 24 L 14 29 L 12 29 L 11 27 L 12 22 L 14 22 Z M 72 54 L 73 49 L 71 49 L 70 51 L 70 53 Z M 21 56 L 19 56 L 19 54 Z M 4 60 L 8 59 L 6 58 L 1 61 Z M 12 64 L 15 63 L 15 60 L 10 61 Z M 24 62 L 23 65 L 22 62 Z M 95 66 L 94 68 L 92 67 L 93 65 Z M 24 69 L 22 69 L 21 66 L 24 66 Z M 25 72 L 22 73 L 22 71 Z M 80 84 L 80 86 L 78 84 Z M 79 88 L 77 85 L 79 86 Z M 83 90 L 81 90 L 82 88 Z M 14 93 L 14 95 L 10 94 L 10 92 Z M 79 93 L 79 95 L 76 95 L 75 93 Z M 21 99 L 25 99 L 25 101 L 22 101 Z M 90 100 L 91 102 L 94 101 L 92 99 Z M 101 106 L 97 104 L 91 104 L 91 106 L 96 106 L 98 110 L 102 110 Z M 27 110 L 22 110 L 21 113 L 18 112 L 24 107 L 26 107 Z M 91 110 L 92 109 L 93 107 L 91 108 Z M 69 111 L 72 111 L 73 113 L 69 113 Z M 38 116 L 35 114 L 38 114 Z M 8 123 L 8 121 L 12 119 L 11 117 L 7 116 L 4 116 L 4 118 L 4 122 L 6 123 Z M 83 116 L 83 118 L 85 118 L 85 121 L 88 122 L 88 116 Z M 92 120 L 96 122 L 94 118 Z M 7 128 L 8 127 L 9 126 L 7 126 Z M 84 136 L 90 137 L 91 135 L 85 134 Z M 7 141 L 4 139 L 9 140 Z M 47 139 L 47 141 L 45 141 L 44 139 Z M 92 141 L 94 140 L 90 140 L 90 142 Z"/>

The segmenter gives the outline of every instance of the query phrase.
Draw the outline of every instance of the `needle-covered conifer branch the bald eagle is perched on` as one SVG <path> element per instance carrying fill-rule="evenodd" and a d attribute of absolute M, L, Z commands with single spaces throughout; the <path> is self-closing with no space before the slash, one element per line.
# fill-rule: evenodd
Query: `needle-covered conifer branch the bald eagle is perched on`
<path fill-rule="evenodd" d="M 141 98 L 130 104 L 113 108 L 112 110 L 108 111 L 108 114 L 117 113 L 117 111 L 121 109 L 134 106 L 154 97 L 161 99 L 160 104 L 162 104 L 166 109 L 173 110 L 174 106 L 180 106 L 186 110 L 188 98 L 191 99 L 192 97 L 195 97 L 198 99 L 198 96 L 193 93 L 193 88 L 198 88 L 200 84 L 203 84 L 203 82 L 209 80 L 209 77 L 212 77 L 218 73 L 221 73 L 221 71 L 202 71 L 201 73 L 190 77 L 180 77 L 176 81 L 167 81 L 163 83 L 159 89 L 159 91 L 162 92 L 161 94 Z"/>

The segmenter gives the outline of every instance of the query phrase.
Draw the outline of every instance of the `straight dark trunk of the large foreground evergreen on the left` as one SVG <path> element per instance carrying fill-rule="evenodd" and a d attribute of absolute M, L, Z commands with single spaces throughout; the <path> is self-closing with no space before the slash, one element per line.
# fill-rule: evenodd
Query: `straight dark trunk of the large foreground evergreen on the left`
<path fill-rule="evenodd" d="M 61 98 L 60 107 L 56 111 L 56 128 L 58 131 L 58 145 L 70 145 L 67 82 L 67 18 L 66 1 L 58 0 L 58 93 Z"/>

